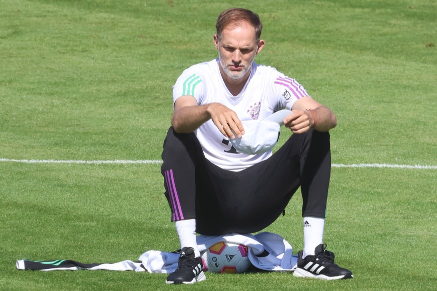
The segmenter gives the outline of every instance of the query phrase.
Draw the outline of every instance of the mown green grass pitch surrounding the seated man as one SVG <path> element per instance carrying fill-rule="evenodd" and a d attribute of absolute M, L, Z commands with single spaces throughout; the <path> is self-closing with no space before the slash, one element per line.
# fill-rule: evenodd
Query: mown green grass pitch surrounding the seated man
<path fill-rule="evenodd" d="M 258 63 L 331 107 L 325 242 L 352 280 L 289 273 L 19 271 L 16 260 L 137 260 L 179 240 L 160 164 L 171 88 L 210 60 L 217 15 L 259 13 Z M 0 0 L 1 290 L 431 290 L 437 286 L 435 0 Z M 289 133 L 284 130 L 280 142 Z M 408 168 L 405 165 L 429 165 Z M 299 193 L 266 231 L 302 248 Z"/>

